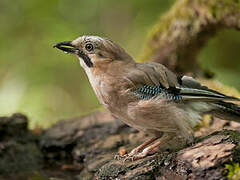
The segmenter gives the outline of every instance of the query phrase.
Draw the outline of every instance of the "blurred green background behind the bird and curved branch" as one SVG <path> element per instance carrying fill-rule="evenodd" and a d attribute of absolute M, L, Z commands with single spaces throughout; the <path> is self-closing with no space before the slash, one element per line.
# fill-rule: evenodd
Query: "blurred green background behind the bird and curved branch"
<path fill-rule="evenodd" d="M 30 127 L 100 107 L 78 60 L 52 46 L 105 36 L 133 57 L 174 0 L 0 0 L 0 115 L 25 113 Z M 240 32 L 222 31 L 199 56 L 217 79 L 240 89 Z"/>

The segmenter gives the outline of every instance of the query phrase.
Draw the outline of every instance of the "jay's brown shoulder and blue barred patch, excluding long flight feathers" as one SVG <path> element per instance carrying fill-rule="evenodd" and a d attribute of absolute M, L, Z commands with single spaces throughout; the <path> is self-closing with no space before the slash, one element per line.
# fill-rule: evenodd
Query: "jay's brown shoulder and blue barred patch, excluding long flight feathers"
<path fill-rule="evenodd" d="M 136 64 L 129 72 L 127 80 L 131 82 L 132 92 L 140 99 L 162 96 L 179 99 L 172 87 L 180 87 L 178 77 L 159 63 Z"/>

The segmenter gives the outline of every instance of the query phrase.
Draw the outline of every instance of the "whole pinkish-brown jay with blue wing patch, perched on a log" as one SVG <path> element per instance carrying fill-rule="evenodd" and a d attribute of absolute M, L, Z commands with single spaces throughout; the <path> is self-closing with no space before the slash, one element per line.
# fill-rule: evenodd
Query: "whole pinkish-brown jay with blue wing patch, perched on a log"
<path fill-rule="evenodd" d="M 53 47 L 79 59 L 98 100 L 114 117 L 151 135 L 124 160 L 153 155 L 177 137 L 193 142 L 193 129 L 204 114 L 240 123 L 240 106 L 234 103 L 240 99 L 160 63 L 137 63 L 108 38 L 84 35 Z"/>

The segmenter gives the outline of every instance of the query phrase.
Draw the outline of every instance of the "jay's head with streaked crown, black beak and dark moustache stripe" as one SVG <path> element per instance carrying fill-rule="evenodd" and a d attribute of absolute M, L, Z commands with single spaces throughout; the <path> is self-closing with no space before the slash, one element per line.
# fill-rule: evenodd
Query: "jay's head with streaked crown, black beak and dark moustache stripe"
<path fill-rule="evenodd" d="M 124 49 L 109 39 L 98 36 L 81 36 L 73 41 L 63 41 L 54 47 L 76 55 L 84 69 L 107 65 L 115 61 L 132 62 Z"/>

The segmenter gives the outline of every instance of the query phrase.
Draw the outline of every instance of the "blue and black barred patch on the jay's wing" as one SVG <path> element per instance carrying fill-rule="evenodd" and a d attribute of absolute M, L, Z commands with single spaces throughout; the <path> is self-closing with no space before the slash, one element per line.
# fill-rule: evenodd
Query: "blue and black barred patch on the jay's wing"
<path fill-rule="evenodd" d="M 181 100 L 182 97 L 180 95 L 175 95 L 173 93 L 168 92 L 166 89 L 163 89 L 161 86 L 148 86 L 145 85 L 135 91 L 134 94 L 143 100 L 148 100 L 151 98 L 155 98 L 158 96 L 162 96 L 166 99 L 170 100 Z"/>

